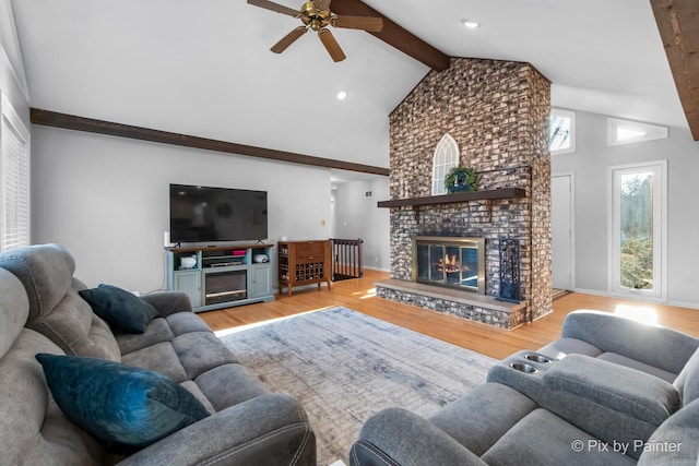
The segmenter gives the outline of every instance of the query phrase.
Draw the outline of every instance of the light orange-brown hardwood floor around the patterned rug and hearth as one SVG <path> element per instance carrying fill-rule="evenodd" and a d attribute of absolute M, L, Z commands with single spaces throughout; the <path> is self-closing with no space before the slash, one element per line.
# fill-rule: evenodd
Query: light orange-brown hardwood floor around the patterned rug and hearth
<path fill-rule="evenodd" d="M 699 310 L 578 292 L 557 298 L 554 301 L 554 312 L 537 321 L 506 331 L 376 297 L 374 282 L 388 277 L 388 273 L 366 270 L 363 278 L 334 282 L 330 290 L 325 285 L 322 285 L 320 290 L 317 287 L 294 289 L 294 296 L 276 295 L 273 302 L 202 312 L 199 315 L 214 331 L 218 331 L 345 306 L 496 359 L 502 359 L 521 349 L 536 349 L 556 339 L 565 316 L 577 309 L 614 312 L 618 306 L 627 306 L 631 307 L 633 312 L 640 313 L 643 309 L 639 308 L 648 308 L 656 314 L 659 324 L 699 337 Z"/>

